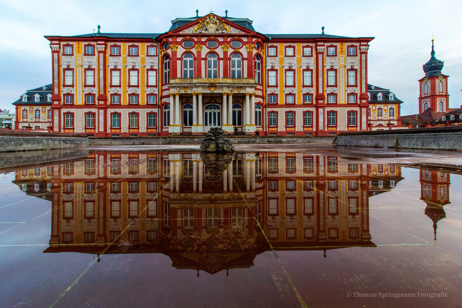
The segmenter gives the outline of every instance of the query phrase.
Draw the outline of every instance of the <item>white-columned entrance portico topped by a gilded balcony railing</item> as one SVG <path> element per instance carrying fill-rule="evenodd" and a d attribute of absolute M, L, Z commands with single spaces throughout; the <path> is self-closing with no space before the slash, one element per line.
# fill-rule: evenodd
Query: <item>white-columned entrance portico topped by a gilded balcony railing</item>
<path fill-rule="evenodd" d="M 170 80 L 169 135 L 201 135 L 211 127 L 253 134 L 255 80 L 176 78 Z"/>

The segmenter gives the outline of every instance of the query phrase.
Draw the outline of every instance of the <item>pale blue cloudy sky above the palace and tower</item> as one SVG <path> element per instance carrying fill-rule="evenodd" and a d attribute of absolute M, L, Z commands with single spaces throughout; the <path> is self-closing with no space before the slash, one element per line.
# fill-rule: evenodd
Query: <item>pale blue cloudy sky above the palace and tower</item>
<path fill-rule="evenodd" d="M 436 57 L 449 75 L 450 108 L 462 105 L 462 1 L 88 1 L 0 0 L 0 109 L 26 90 L 51 83 L 51 50 L 44 35 L 101 32 L 163 33 L 171 20 L 208 14 L 253 20 L 263 34 L 321 33 L 373 36 L 368 82 L 391 89 L 401 115 L 418 112 L 422 65 Z"/>

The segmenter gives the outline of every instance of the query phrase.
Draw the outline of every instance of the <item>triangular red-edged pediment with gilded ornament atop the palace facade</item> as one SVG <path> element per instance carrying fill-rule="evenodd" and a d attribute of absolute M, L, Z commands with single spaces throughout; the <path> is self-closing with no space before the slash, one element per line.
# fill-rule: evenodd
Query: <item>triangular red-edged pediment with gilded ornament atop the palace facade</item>
<path fill-rule="evenodd" d="M 254 34 L 255 31 L 246 29 L 238 24 L 235 24 L 225 18 L 221 18 L 213 13 L 210 13 L 204 17 L 198 18 L 185 24 L 179 28 L 176 28 L 169 33 L 178 34 L 208 34 L 208 35 L 219 35 L 219 34 Z"/>

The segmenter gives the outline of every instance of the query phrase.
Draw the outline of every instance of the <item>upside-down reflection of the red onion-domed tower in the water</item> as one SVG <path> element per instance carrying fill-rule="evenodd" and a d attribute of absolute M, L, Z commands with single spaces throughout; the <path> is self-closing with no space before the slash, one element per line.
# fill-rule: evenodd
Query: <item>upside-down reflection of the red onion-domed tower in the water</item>
<path fill-rule="evenodd" d="M 433 221 L 435 241 L 437 223 L 446 217 L 443 206 L 450 203 L 449 185 L 449 173 L 420 170 L 420 199 L 427 204 L 425 215 Z"/>

